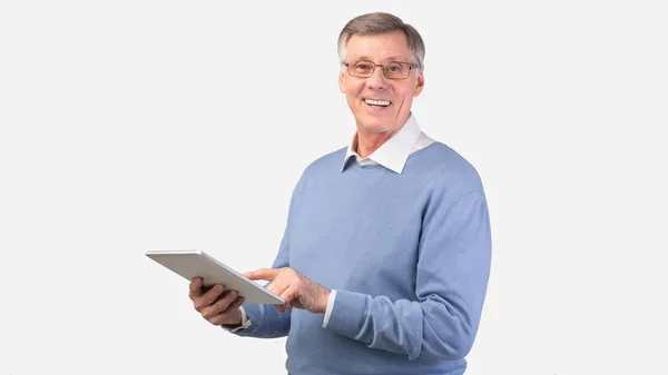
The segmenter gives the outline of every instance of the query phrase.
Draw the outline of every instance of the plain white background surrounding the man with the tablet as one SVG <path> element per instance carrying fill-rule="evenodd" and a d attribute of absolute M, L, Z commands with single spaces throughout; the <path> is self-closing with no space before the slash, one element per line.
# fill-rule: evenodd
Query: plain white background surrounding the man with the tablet
<path fill-rule="evenodd" d="M 466 374 L 666 374 L 664 2 L 405 0 L 2 1 L 0 374 L 283 374 L 144 251 L 271 265 L 354 131 L 338 31 L 376 10 L 422 32 L 414 114 L 488 194 Z"/>

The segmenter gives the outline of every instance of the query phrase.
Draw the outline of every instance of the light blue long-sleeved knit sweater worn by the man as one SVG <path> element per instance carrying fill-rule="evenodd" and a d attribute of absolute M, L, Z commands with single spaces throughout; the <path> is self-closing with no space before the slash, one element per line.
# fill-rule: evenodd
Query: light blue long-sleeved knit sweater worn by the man
<path fill-rule="evenodd" d="M 336 289 L 330 320 L 302 309 L 244 305 L 239 336 L 287 335 L 292 375 L 463 374 L 491 258 L 475 169 L 434 142 L 403 172 L 360 166 L 345 149 L 297 182 L 274 267 Z"/>

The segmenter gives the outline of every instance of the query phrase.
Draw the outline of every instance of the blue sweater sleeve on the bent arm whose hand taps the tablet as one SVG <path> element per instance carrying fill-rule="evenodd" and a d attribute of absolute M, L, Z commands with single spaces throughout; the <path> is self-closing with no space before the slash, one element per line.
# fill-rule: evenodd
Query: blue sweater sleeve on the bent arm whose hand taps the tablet
<path fill-rule="evenodd" d="M 488 206 L 479 190 L 432 205 L 418 249 L 416 300 L 337 290 L 327 329 L 410 359 L 454 361 L 469 353 L 490 273 Z"/>

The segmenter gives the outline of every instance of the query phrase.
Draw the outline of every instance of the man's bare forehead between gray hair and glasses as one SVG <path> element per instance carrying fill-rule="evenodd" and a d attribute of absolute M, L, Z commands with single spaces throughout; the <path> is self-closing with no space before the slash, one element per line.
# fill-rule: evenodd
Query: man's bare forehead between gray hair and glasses
<path fill-rule="evenodd" d="M 371 36 L 355 34 L 348 40 L 345 55 L 346 59 L 358 57 L 377 60 L 390 58 L 411 59 L 409 41 L 401 30 Z"/>

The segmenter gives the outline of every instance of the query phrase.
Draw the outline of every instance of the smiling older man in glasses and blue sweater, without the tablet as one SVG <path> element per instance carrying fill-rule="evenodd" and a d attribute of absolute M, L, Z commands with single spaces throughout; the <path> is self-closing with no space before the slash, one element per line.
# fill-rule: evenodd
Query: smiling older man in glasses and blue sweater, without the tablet
<path fill-rule="evenodd" d="M 195 308 L 239 336 L 287 335 L 298 374 L 463 374 L 485 295 L 491 235 L 483 187 L 454 150 L 420 130 L 418 31 L 387 13 L 338 39 L 341 91 L 356 132 L 296 184 L 269 280 L 283 306 L 190 284 Z"/>

